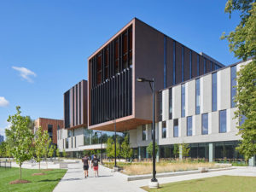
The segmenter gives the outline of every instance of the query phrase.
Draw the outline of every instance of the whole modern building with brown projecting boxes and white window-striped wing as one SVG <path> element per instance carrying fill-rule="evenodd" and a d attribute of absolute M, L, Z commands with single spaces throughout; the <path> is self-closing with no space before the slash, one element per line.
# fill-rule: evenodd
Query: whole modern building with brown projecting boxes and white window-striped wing
<path fill-rule="evenodd" d="M 100 148 L 116 125 L 120 137 L 129 133 L 134 158 L 148 158 L 153 105 L 148 84 L 137 82 L 144 78 L 154 79 L 157 96 L 157 158 L 172 158 L 174 144 L 189 143 L 192 158 L 240 159 L 233 85 L 242 64 L 225 67 L 134 18 L 89 56 L 86 93 L 75 85 L 64 94 L 66 133 L 58 144 L 73 152 Z"/>

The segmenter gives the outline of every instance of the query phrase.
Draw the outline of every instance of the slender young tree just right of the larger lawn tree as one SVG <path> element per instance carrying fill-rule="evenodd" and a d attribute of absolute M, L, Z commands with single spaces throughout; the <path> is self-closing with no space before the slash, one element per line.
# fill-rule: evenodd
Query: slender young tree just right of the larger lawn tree
<path fill-rule="evenodd" d="M 40 170 L 40 163 L 42 161 L 42 157 L 44 156 L 44 148 L 46 147 L 46 144 L 49 140 L 48 131 L 43 131 L 42 127 L 38 127 L 38 131 L 35 135 L 35 154 L 36 154 L 36 160 L 39 164 L 39 170 Z"/>

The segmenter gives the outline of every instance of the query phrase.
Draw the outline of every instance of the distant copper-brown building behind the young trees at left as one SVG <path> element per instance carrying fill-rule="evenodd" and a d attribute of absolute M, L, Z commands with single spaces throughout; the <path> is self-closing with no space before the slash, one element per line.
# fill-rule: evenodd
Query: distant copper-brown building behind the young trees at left
<path fill-rule="evenodd" d="M 60 130 L 64 126 L 63 120 L 38 118 L 34 121 L 34 133 L 38 131 L 39 126 L 42 127 L 43 131 L 48 131 L 52 143 L 57 144 L 57 130 Z"/>

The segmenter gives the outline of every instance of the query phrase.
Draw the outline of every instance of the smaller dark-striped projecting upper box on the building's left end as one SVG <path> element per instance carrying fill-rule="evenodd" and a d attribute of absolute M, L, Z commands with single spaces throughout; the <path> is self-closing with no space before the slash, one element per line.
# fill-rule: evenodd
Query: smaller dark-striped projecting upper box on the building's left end
<path fill-rule="evenodd" d="M 87 81 L 82 80 L 64 93 L 64 128 L 87 127 Z"/>

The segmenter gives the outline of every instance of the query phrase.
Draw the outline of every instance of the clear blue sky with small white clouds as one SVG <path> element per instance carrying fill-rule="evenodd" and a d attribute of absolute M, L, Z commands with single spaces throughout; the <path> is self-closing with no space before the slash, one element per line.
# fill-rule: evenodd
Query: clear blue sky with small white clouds
<path fill-rule="evenodd" d="M 137 17 L 224 65 L 238 61 L 220 40 L 239 23 L 224 0 L 0 0 L 0 134 L 9 114 L 63 119 L 63 93 L 87 79 L 87 58 Z"/>

